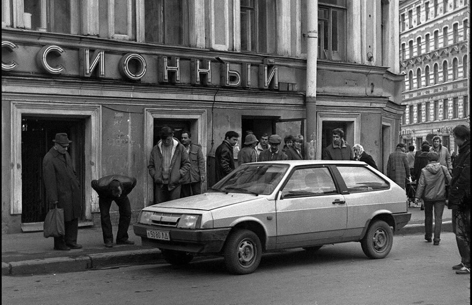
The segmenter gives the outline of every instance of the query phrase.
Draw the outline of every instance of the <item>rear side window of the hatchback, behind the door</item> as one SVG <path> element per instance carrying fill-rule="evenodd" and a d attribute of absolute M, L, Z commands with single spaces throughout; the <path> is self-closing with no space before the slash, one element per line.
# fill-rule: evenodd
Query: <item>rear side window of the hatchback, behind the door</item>
<path fill-rule="evenodd" d="M 385 190 L 387 181 L 364 166 L 337 166 L 349 193 Z"/>

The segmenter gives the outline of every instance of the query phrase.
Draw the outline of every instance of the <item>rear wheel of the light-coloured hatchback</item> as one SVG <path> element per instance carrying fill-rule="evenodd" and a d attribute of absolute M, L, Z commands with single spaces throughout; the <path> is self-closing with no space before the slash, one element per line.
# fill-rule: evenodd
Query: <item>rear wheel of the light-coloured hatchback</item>
<path fill-rule="evenodd" d="M 384 221 L 375 221 L 360 241 L 362 251 L 370 258 L 384 258 L 393 245 L 392 228 Z"/>

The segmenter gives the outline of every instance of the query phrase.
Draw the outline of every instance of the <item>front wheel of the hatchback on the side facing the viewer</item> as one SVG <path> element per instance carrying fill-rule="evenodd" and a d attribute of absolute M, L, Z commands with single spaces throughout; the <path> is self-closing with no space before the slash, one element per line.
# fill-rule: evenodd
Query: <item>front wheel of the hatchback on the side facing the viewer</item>
<path fill-rule="evenodd" d="M 262 245 L 259 237 L 250 230 L 237 229 L 226 241 L 225 264 L 233 274 L 249 274 L 261 262 Z"/>

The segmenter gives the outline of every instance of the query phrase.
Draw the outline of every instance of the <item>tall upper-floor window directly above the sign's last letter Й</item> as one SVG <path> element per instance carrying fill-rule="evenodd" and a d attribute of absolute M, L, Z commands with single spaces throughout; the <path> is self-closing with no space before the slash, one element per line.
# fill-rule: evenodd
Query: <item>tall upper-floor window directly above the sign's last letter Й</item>
<path fill-rule="evenodd" d="M 241 0 L 241 50 L 275 53 L 275 1 Z"/>

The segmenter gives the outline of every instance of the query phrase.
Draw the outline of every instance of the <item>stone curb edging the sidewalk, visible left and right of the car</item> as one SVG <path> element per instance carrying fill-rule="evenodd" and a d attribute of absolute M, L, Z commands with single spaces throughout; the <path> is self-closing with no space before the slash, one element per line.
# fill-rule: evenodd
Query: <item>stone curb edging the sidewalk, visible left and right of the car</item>
<path fill-rule="evenodd" d="M 442 222 L 442 232 L 452 232 L 452 221 Z M 424 223 L 407 224 L 394 235 L 424 233 Z M 162 262 L 159 249 L 130 250 L 110 253 L 95 253 L 78 257 L 53 257 L 1 263 L 2 276 L 69 273 L 106 269 L 118 266 L 155 264 Z"/>

